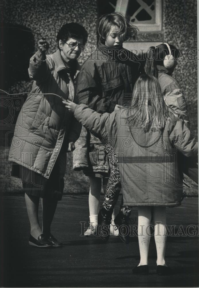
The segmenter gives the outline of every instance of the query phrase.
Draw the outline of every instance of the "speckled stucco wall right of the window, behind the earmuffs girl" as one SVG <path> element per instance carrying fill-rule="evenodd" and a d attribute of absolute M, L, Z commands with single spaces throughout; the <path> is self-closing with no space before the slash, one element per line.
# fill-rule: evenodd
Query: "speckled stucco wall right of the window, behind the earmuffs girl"
<path fill-rule="evenodd" d="M 165 42 L 187 51 L 197 49 L 197 1 L 164 0 L 163 30 Z M 181 60 L 174 76 L 179 81 L 188 103 L 191 130 L 197 135 L 197 59 Z"/>

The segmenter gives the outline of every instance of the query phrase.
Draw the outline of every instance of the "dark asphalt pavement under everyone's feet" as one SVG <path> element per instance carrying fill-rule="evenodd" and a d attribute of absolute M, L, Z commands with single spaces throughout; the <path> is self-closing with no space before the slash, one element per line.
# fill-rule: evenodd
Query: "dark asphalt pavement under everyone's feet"
<path fill-rule="evenodd" d="M 118 210 L 119 202 L 120 199 Z M 165 258 L 174 270 L 172 276 L 156 274 L 153 237 L 149 247 L 149 275 L 136 276 L 132 274 L 132 268 L 139 263 L 136 231 L 128 245 L 119 237 L 111 236 L 108 242 L 103 242 L 99 236 L 81 236 L 82 229 L 88 227 L 88 195 L 63 196 L 58 203 L 51 232 L 64 243 L 61 248 L 29 246 L 30 227 L 23 196 L 4 196 L 1 214 L 3 287 L 199 286 L 198 233 L 194 232 L 198 228 L 198 198 L 185 198 L 182 206 L 167 208 L 168 228 L 175 225 L 174 235 L 167 238 Z M 136 208 L 131 217 L 136 218 L 136 227 Z"/>

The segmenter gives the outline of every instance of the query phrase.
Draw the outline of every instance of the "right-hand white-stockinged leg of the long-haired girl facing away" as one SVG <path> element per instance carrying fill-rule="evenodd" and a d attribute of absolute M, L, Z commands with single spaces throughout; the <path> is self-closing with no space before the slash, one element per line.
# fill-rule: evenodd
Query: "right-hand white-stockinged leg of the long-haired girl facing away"
<path fill-rule="evenodd" d="M 157 249 L 157 265 L 167 266 L 165 264 L 165 249 L 167 235 L 166 226 L 166 207 L 153 207 L 154 209 L 154 238 Z"/>

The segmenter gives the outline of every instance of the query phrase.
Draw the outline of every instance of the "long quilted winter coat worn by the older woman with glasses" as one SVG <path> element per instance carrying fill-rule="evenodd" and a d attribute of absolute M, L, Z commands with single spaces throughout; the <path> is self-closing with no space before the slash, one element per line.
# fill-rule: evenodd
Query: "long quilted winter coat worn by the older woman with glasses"
<path fill-rule="evenodd" d="M 77 73 L 72 80 L 59 50 L 47 55 L 43 61 L 37 52 L 30 58 L 28 72 L 34 80 L 33 94 L 28 95 L 18 116 L 9 160 L 46 178 L 49 178 L 61 148 L 62 151 L 66 148 L 62 146 L 75 142 L 81 131 L 81 125 L 58 97 L 74 101 L 80 71 L 77 61 L 74 65 Z"/>

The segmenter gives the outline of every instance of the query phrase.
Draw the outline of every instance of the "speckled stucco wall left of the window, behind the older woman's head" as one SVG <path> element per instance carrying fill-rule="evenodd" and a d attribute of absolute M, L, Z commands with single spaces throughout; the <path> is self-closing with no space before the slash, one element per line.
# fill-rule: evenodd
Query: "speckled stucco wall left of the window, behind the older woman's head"
<path fill-rule="evenodd" d="M 30 29 L 33 32 L 38 32 L 44 35 L 49 41 L 50 48 L 48 54 L 57 50 L 56 34 L 63 24 L 66 22 L 78 22 L 82 24 L 88 31 L 88 46 L 96 45 L 96 22 L 97 22 L 97 5 L 93 0 L 3 0 L 2 3 L 2 16 L 4 26 L 17 26 L 22 29 Z M 6 51 L 10 49 L 10 53 L 16 54 L 16 58 L 21 58 L 21 61 L 27 62 L 22 55 L 23 52 L 30 49 L 31 51 L 37 50 L 37 41 L 40 39 L 39 35 L 24 32 L 19 29 L 2 29 L 3 46 Z M 16 35 L 18 37 L 16 37 Z M 31 38 L 31 41 L 30 41 Z M 14 41 L 13 41 L 14 40 Z M 5 53 L 6 53 L 5 51 Z M 89 52 L 89 50 L 86 50 Z M 9 59 L 8 59 L 9 60 Z M 81 57 L 80 63 L 83 62 Z M 8 63 L 9 62 L 9 63 Z M 7 61 L 10 73 L 14 66 L 15 60 Z M 21 71 L 20 65 L 18 66 L 18 74 Z M 28 62 L 26 65 L 28 69 Z M 4 68 L 5 69 L 5 68 Z M 24 66 L 23 66 L 24 69 Z M 16 67 L 14 67 L 16 70 Z M 6 72 L 6 71 L 4 71 Z M 27 70 L 26 70 L 27 73 Z M 21 73 L 24 74 L 24 73 Z M 26 74 L 27 76 L 27 74 Z M 27 77 L 24 75 L 19 79 L 16 75 L 13 76 L 14 80 L 9 85 L 9 91 L 22 92 L 30 91 L 31 84 Z M 24 81 L 25 80 L 25 81 Z M 5 79 L 6 81 L 6 79 Z M 29 82 L 29 83 L 26 83 Z M 12 88 L 10 88 L 12 86 Z"/>

